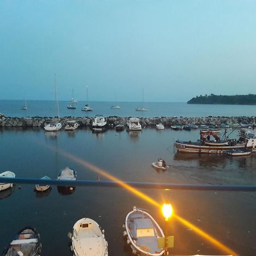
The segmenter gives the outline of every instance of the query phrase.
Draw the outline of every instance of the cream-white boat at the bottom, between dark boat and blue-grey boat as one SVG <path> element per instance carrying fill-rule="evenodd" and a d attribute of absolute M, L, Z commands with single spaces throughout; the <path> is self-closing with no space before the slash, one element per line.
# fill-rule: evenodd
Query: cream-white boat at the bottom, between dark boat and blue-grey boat
<path fill-rule="evenodd" d="M 73 256 L 108 256 L 108 242 L 104 229 L 90 218 L 81 218 L 70 234 Z"/>

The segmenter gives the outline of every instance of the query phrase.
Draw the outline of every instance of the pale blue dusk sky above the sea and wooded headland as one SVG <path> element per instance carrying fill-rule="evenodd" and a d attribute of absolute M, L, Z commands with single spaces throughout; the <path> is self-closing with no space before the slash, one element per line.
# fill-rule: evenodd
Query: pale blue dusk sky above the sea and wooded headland
<path fill-rule="evenodd" d="M 256 94 L 256 1 L 0 1 L 0 99 Z"/>

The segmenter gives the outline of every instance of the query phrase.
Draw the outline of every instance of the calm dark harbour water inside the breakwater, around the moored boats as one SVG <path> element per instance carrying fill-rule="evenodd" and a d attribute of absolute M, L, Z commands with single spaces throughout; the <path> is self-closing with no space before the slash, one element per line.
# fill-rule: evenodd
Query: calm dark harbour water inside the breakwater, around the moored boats
<path fill-rule="evenodd" d="M 180 155 L 172 148 L 174 139 L 197 139 L 199 131 L 156 131 L 142 133 L 92 134 L 80 129 L 75 133 L 46 133 L 42 129 L 0 129 L 1 171 L 14 171 L 17 177 L 56 178 L 65 166 L 77 170 L 77 179 L 96 180 L 96 172 L 75 162 L 62 152 L 105 170 L 125 181 L 200 184 L 255 185 L 256 156 L 229 158 L 217 155 Z M 171 168 L 156 172 L 151 163 L 162 157 Z M 100 175 L 101 180 L 108 180 Z M 99 181 L 100 182 L 100 181 Z M 142 189 L 152 199 L 172 203 L 175 213 L 205 230 L 239 255 L 256 254 L 256 195 L 245 192 L 164 191 Z M 164 227 L 159 209 L 124 188 L 77 187 L 71 195 L 61 195 L 56 187 L 44 197 L 33 185 L 22 185 L 14 192 L 0 194 L 0 249 L 23 226 L 35 226 L 42 238 L 43 256 L 71 256 L 67 233 L 79 218 L 93 218 L 105 229 L 109 255 L 128 256 L 122 239 L 122 224 L 134 205 L 148 211 Z M 224 254 L 203 238 L 171 220 L 175 236 L 171 254 Z"/>

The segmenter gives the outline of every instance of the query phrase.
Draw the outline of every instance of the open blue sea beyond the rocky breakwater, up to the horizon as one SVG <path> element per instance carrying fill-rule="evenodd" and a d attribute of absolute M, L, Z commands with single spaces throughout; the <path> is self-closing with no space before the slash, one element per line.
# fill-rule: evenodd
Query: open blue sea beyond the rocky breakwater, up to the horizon
<path fill-rule="evenodd" d="M 82 107 L 86 102 L 78 102 L 77 109 L 67 109 L 68 101 L 60 101 L 60 116 L 67 117 L 94 117 L 102 114 L 106 117 L 117 115 L 119 117 L 208 117 L 218 116 L 246 116 L 256 115 L 256 106 L 245 105 L 188 105 L 184 102 L 146 102 L 144 108 L 147 112 L 136 112 L 135 109 L 141 106 L 141 102 L 90 102 L 93 112 L 83 112 Z M 119 105 L 121 109 L 110 109 L 112 105 Z M 24 101 L 0 100 L 0 113 L 7 117 L 54 117 L 54 101 L 27 101 L 27 110 L 21 110 Z"/>

